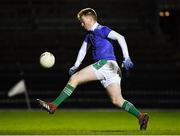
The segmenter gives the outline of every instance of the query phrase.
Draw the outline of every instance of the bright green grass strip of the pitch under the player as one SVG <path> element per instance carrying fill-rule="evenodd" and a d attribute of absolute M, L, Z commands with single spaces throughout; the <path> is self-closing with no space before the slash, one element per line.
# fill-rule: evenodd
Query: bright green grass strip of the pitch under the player
<path fill-rule="evenodd" d="M 146 131 L 139 131 L 137 119 L 118 111 L 1 111 L 0 135 L 44 134 L 180 134 L 180 112 L 148 112 Z"/>

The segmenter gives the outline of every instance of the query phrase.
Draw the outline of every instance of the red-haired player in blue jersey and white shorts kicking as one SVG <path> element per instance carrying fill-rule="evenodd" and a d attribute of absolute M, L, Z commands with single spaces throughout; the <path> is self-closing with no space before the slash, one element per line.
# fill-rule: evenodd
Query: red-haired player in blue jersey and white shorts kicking
<path fill-rule="evenodd" d="M 149 120 L 148 114 L 140 112 L 132 103 L 125 100 L 121 94 L 121 70 L 116 62 L 114 49 L 109 39 L 117 40 L 119 43 L 124 57 L 124 68 L 129 70 L 133 67 L 133 63 L 129 57 L 124 37 L 109 27 L 100 25 L 97 22 L 96 12 L 91 8 L 82 9 L 77 14 L 77 18 L 81 26 L 87 30 L 87 34 L 79 50 L 76 62 L 69 70 L 71 77 L 65 88 L 54 101 L 45 102 L 37 99 L 38 103 L 50 114 L 53 114 L 58 106 L 73 93 L 78 85 L 99 80 L 108 92 L 112 103 L 134 115 L 139 121 L 140 130 L 145 130 Z M 76 72 L 89 46 L 92 46 L 95 63 Z"/>

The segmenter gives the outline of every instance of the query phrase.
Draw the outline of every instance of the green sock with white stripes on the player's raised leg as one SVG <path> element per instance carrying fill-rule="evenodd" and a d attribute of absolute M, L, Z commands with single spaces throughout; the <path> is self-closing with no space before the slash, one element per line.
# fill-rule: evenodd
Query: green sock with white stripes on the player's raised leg
<path fill-rule="evenodd" d="M 52 103 L 56 106 L 59 106 L 66 98 L 68 98 L 74 91 L 74 87 L 70 84 L 67 84 L 59 96 Z"/>

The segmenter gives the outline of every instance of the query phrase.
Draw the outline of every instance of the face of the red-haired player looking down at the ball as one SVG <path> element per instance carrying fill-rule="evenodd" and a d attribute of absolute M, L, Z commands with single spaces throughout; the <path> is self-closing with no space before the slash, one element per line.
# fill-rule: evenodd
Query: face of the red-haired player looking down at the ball
<path fill-rule="evenodd" d="M 81 17 L 80 22 L 81 22 L 81 26 L 87 31 L 91 30 L 94 24 L 93 18 L 91 16 L 85 16 L 85 15 Z"/>

